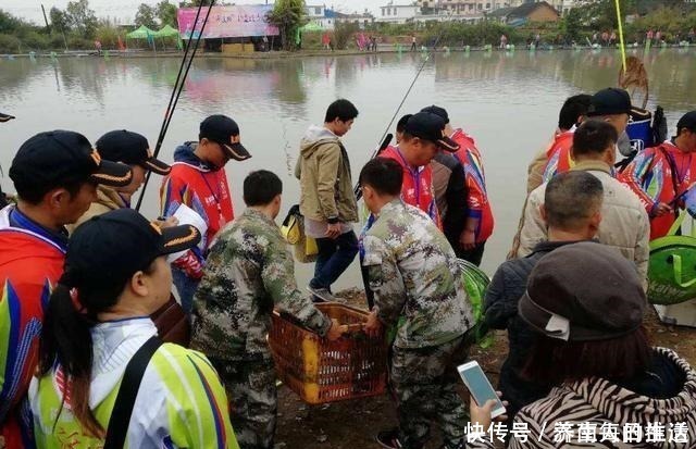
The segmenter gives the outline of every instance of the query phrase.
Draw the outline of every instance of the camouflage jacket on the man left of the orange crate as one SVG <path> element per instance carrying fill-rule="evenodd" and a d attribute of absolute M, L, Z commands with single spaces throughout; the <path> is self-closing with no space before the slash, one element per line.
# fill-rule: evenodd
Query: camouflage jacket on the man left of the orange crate
<path fill-rule="evenodd" d="M 194 300 L 191 347 L 223 360 L 270 358 L 276 307 L 325 335 L 331 321 L 297 288 L 293 255 L 278 226 L 253 209 L 216 236 Z"/>

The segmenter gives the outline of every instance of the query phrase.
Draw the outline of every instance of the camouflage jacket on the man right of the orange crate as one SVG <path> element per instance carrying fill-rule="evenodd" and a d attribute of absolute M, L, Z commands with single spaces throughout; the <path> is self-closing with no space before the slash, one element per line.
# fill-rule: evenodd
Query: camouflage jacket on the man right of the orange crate
<path fill-rule="evenodd" d="M 401 321 L 396 346 L 442 345 L 473 326 L 455 252 L 423 212 L 400 200 L 385 204 L 363 248 L 380 320 L 389 326 Z"/>

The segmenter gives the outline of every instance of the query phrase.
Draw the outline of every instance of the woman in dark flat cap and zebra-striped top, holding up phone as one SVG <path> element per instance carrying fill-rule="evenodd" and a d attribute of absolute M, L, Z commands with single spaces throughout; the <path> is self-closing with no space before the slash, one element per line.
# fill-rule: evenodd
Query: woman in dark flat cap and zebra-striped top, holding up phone
<path fill-rule="evenodd" d="M 641 280 L 616 249 L 594 242 L 537 263 L 519 308 L 537 334 L 524 375 L 556 388 L 518 413 L 514 424 L 531 432 L 511 448 L 696 447 L 696 372 L 650 348 Z M 570 432 L 559 436 L 561 426 Z M 596 435 L 595 445 L 581 435 Z"/>

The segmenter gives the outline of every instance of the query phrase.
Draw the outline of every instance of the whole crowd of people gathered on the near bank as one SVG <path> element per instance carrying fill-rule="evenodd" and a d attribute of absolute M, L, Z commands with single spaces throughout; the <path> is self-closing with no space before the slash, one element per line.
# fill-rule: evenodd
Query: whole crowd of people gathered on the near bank
<path fill-rule="evenodd" d="M 631 109 L 620 89 L 569 98 L 530 165 L 483 317 L 508 332 L 497 425 L 527 431 L 510 447 L 583 446 L 558 427 L 589 425 L 611 428 L 607 447 L 696 447 L 696 372 L 643 327 L 649 241 L 672 226 L 696 176 L 696 111 L 617 173 Z M 10 169 L 16 202 L 0 211 L 0 448 L 273 448 L 273 310 L 343 338 L 345 323 L 315 303 L 339 300 L 332 286 L 357 257 L 374 301 L 364 332 L 390 336 L 398 425 L 377 442 L 423 448 L 435 422 L 447 449 L 494 447 L 495 403 L 464 403 L 456 371 L 477 324 L 458 259 L 478 265 L 495 225 L 483 153 L 442 107 L 402 116 L 396 145 L 359 171 L 370 217 L 356 235 L 341 138 L 358 115 L 336 100 L 299 144 L 299 210 L 318 245 L 306 288 L 276 224 L 281 178 L 249 173 L 246 209 L 232 203 L 225 165 L 251 158 L 233 119 L 203 120 L 171 165 L 130 130 L 94 147 L 69 130 L 25 141 Z M 148 172 L 163 176 L 156 220 L 130 209 Z M 164 342 L 152 319 L 173 286 L 190 341 Z M 657 426 L 669 445 L 642 438 Z"/>

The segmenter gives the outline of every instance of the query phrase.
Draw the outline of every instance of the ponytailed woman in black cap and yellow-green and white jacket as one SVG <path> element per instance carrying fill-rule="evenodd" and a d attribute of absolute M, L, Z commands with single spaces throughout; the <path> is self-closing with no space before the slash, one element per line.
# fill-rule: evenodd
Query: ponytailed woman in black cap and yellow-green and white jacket
<path fill-rule="evenodd" d="M 29 388 L 39 449 L 238 448 L 210 362 L 162 344 L 148 316 L 170 298 L 165 255 L 199 240 L 192 226 L 162 229 L 130 209 L 75 230 L 47 305 L 39 374 Z M 145 364 L 137 376 L 140 363 L 133 361 Z M 127 388 L 136 389 L 129 407 Z"/>

